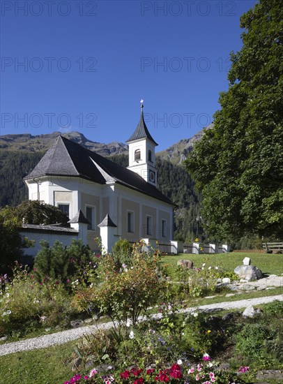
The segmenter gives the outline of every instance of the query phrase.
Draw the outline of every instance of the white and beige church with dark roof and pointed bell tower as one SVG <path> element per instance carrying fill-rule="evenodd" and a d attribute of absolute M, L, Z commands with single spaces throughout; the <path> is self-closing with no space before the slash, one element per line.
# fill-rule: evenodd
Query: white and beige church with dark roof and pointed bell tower
<path fill-rule="evenodd" d="M 157 143 L 146 127 L 143 105 L 139 124 L 127 142 L 129 166 L 124 168 L 59 136 L 24 177 L 29 199 L 59 207 L 70 221 L 82 212 L 91 249 L 95 249 L 94 238 L 100 235 L 100 224 L 107 215 L 117 239 L 170 242 L 176 205 L 156 187 Z"/>

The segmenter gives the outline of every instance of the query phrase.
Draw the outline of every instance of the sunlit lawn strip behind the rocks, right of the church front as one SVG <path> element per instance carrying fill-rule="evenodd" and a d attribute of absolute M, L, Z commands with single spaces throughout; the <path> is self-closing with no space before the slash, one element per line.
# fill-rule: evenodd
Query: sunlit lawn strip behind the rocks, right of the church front
<path fill-rule="evenodd" d="M 163 264 L 177 265 L 177 261 L 191 260 L 194 267 L 200 267 L 201 264 L 211 265 L 213 267 L 220 266 L 228 271 L 233 271 L 238 265 L 243 264 L 243 258 L 248 257 L 252 260 L 251 264 L 261 269 L 263 274 L 277 274 L 283 273 L 283 255 L 272 253 L 217 253 L 217 254 L 204 254 L 193 255 L 192 253 L 181 253 L 179 255 L 168 255 L 162 258 Z"/>

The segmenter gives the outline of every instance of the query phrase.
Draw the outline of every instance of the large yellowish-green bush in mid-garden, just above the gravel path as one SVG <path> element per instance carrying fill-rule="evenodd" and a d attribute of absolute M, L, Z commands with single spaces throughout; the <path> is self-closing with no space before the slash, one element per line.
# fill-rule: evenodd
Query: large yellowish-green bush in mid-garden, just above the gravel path
<path fill-rule="evenodd" d="M 116 256 L 108 254 L 102 259 L 99 283 L 82 290 L 78 289 L 74 305 L 79 310 L 95 307 L 119 323 L 128 318 L 137 323 L 146 309 L 156 304 L 165 288 L 158 263 L 160 252 L 144 252 L 142 244 L 132 249 L 131 264 L 116 263 Z"/>

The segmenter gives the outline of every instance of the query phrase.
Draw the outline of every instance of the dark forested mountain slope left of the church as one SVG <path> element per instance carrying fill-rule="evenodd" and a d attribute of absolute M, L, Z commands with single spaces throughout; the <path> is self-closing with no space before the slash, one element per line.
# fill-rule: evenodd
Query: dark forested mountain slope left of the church
<path fill-rule="evenodd" d="M 42 152 L 0 152 L 0 206 L 14 206 L 28 198 L 23 177 L 43 157 Z"/>

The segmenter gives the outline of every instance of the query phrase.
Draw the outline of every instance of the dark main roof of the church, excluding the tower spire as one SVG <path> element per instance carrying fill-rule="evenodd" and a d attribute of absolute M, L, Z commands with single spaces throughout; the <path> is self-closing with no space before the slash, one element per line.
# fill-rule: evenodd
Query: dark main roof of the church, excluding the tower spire
<path fill-rule="evenodd" d="M 175 205 L 137 173 L 62 136 L 56 139 L 54 145 L 43 156 L 36 168 L 24 177 L 24 180 L 49 175 L 82 177 L 98 184 L 106 184 L 112 180 L 135 191 Z"/>

